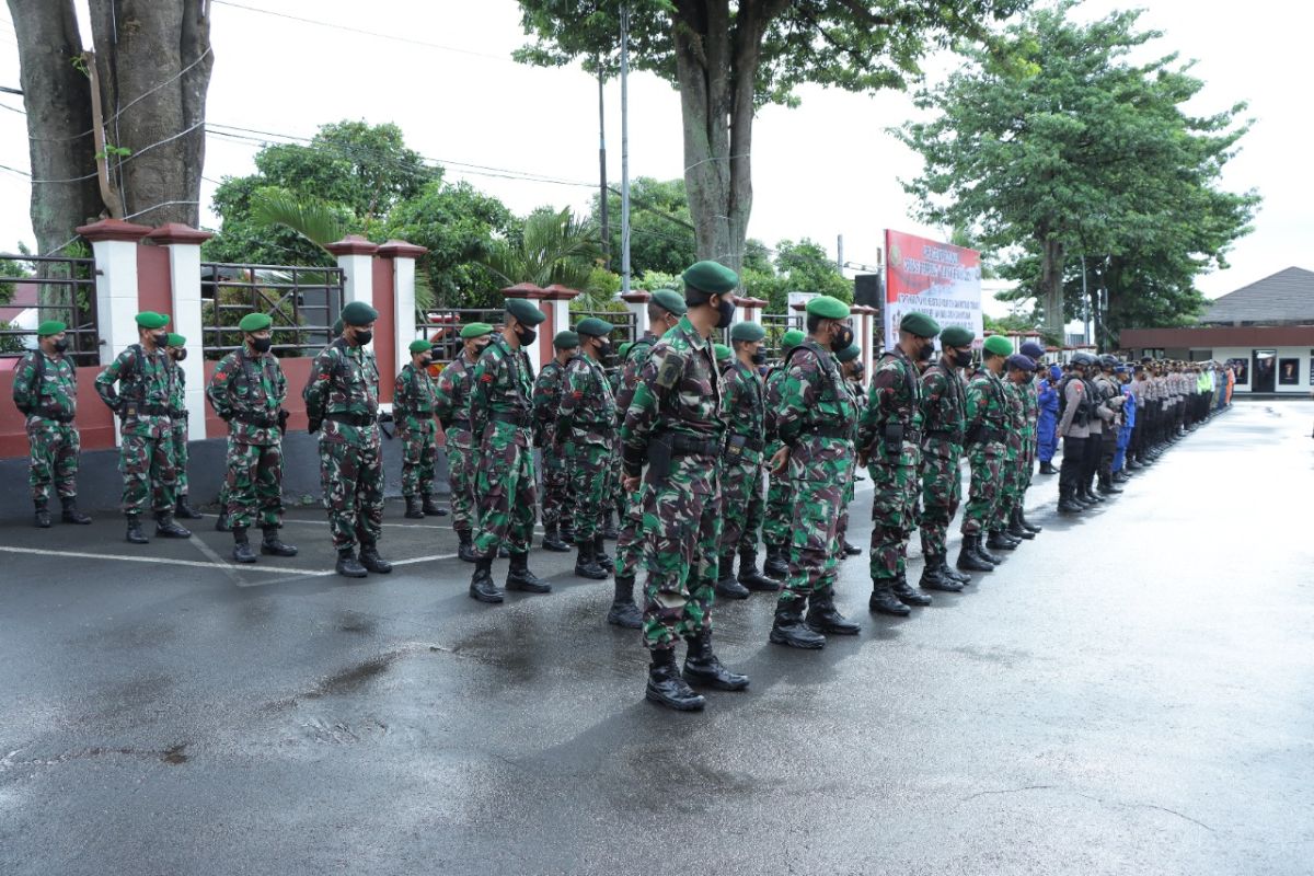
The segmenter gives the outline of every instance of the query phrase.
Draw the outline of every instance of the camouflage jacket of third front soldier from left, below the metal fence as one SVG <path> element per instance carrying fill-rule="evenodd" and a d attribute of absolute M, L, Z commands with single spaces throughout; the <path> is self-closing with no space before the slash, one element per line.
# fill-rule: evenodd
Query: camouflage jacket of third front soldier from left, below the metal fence
<path fill-rule="evenodd" d="M 252 359 L 244 347 L 233 351 L 215 366 L 205 398 L 234 441 L 273 447 L 283 440 L 279 408 L 288 398 L 288 378 L 273 353 Z"/>

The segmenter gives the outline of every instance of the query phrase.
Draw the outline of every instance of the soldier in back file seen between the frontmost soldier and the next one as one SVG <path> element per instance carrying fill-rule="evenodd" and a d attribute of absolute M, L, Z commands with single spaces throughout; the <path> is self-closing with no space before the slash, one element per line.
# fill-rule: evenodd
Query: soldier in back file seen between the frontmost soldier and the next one
<path fill-rule="evenodd" d="M 777 591 L 781 582 L 757 570 L 757 528 L 752 519 L 754 502 L 762 507 L 762 462 L 766 457 L 766 390 L 757 369 L 766 362 L 762 340 L 766 330 L 754 322 L 736 323 L 731 328 L 735 355 L 721 377 L 724 391 L 723 419 L 728 427 L 721 457 L 720 578 L 716 595 L 746 599 L 749 591 Z M 735 553 L 740 571 L 735 577 Z"/>

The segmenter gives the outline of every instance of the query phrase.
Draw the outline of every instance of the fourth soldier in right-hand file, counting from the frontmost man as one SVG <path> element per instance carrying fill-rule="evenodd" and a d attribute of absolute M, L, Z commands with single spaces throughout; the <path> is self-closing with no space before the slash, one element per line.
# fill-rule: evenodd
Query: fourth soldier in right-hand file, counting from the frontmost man
<path fill-rule="evenodd" d="M 958 592 L 971 575 L 949 567 L 949 524 L 963 499 L 958 462 L 963 457 L 967 387 L 962 370 L 972 364 L 971 331 L 949 326 L 940 332 L 940 359 L 921 376 L 921 580 L 924 590 Z M 986 571 L 989 571 L 988 569 Z"/>

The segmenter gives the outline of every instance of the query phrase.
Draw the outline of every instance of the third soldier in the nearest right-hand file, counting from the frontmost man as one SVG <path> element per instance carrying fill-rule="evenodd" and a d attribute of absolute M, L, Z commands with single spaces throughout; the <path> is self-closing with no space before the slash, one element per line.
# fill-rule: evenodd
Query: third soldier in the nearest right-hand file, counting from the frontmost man
<path fill-rule="evenodd" d="M 871 498 L 871 611 L 904 616 L 930 596 L 908 586 L 908 540 L 917 525 L 921 490 L 922 385 L 918 362 L 930 359 L 940 324 L 909 311 L 899 322 L 899 343 L 871 374 L 867 411 L 858 428 L 858 462 L 867 465 Z"/>

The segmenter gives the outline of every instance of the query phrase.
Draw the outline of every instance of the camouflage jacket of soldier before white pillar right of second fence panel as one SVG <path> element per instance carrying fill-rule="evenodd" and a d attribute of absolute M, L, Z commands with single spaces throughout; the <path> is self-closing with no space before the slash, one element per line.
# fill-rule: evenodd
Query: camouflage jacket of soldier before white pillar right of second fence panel
<path fill-rule="evenodd" d="M 339 338 L 310 365 L 310 381 L 301 393 L 306 416 L 323 422 L 323 440 L 355 447 L 378 447 L 378 364 L 364 347 Z M 360 418 L 343 423 L 339 418 Z"/>

